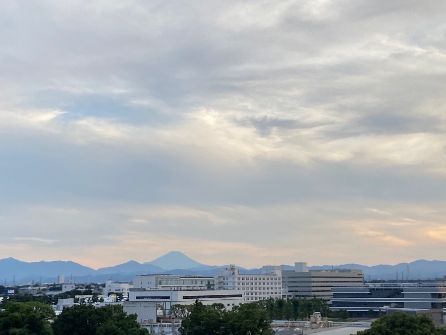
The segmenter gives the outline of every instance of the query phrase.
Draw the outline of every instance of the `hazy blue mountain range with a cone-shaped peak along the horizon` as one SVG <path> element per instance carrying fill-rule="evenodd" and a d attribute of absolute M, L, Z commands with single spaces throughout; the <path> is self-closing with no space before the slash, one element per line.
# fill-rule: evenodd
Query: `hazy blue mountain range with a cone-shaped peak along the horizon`
<path fill-rule="evenodd" d="M 6 282 L 11 285 L 26 284 L 32 281 L 53 283 L 58 275 L 64 275 L 65 280 L 73 279 L 76 282 L 105 282 L 106 280 L 132 281 L 136 274 L 180 274 L 214 276 L 223 266 L 210 266 L 198 263 L 179 251 L 171 251 L 151 262 L 138 263 L 129 261 L 114 267 L 93 268 L 84 267 L 71 261 L 51 262 L 22 262 L 13 258 L 0 260 L 0 284 Z M 241 273 L 261 273 L 261 268 L 240 268 Z M 293 266 L 284 266 L 293 269 Z M 364 272 L 364 278 L 370 279 L 435 279 L 443 278 L 446 274 L 445 261 L 418 260 L 411 263 L 397 265 L 377 265 L 368 267 L 360 264 L 342 264 L 336 266 L 314 266 L 309 269 L 355 268 Z"/>

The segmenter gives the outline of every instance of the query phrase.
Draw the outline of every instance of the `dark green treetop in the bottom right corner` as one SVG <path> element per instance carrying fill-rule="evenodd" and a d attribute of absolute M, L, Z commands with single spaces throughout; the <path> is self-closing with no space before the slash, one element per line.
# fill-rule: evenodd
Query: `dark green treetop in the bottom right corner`
<path fill-rule="evenodd" d="M 358 335 L 441 335 L 444 328 L 436 328 L 425 315 L 409 316 L 406 313 L 394 313 L 384 316 L 372 327 L 357 333 Z"/>

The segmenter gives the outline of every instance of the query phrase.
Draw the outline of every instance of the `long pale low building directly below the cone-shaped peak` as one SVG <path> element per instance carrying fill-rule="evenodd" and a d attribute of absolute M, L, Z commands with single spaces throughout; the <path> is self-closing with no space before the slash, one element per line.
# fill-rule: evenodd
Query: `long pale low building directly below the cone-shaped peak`
<path fill-rule="evenodd" d="M 133 277 L 133 288 L 214 289 L 214 277 L 171 274 L 141 274 Z"/>

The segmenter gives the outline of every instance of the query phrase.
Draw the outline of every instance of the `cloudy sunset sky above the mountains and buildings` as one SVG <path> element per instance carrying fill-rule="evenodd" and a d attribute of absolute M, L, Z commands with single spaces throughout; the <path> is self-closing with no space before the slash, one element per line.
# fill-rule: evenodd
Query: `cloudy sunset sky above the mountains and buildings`
<path fill-rule="evenodd" d="M 0 2 L 0 258 L 445 260 L 446 1 Z"/>

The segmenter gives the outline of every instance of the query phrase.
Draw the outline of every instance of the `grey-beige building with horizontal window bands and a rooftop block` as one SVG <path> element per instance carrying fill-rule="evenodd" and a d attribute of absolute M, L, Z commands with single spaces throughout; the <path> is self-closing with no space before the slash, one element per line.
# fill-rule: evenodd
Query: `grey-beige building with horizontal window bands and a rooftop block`
<path fill-rule="evenodd" d="M 282 290 L 296 298 L 329 300 L 334 285 L 362 285 L 364 274 L 356 269 L 309 270 L 305 262 L 294 264 L 294 270 L 283 270 Z"/>

